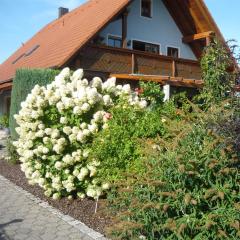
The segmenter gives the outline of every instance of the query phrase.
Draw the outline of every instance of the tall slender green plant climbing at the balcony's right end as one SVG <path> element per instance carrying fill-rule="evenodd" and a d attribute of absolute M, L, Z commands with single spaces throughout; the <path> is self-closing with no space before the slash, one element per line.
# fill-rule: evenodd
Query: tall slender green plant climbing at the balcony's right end
<path fill-rule="evenodd" d="M 229 71 L 233 65 L 230 52 L 218 40 L 214 39 L 206 47 L 201 60 L 204 88 L 201 98 L 209 105 L 226 98 L 234 82 L 234 74 Z"/>

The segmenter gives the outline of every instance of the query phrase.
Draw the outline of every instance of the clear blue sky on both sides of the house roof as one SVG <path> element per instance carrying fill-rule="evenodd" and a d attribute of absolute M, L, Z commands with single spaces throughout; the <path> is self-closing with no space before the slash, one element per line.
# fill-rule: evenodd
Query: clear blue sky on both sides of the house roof
<path fill-rule="evenodd" d="M 86 0 L 0 0 L 0 63 L 42 27 L 57 18 L 58 7 L 70 10 Z M 240 44 L 240 0 L 205 0 L 226 39 Z"/>

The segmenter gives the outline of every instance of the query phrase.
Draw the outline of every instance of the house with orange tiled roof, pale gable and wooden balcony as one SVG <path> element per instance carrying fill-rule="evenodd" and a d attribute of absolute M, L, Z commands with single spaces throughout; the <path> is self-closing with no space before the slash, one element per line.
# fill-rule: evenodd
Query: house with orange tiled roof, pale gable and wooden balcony
<path fill-rule="evenodd" d="M 199 59 L 216 35 L 203 0 L 90 0 L 59 9 L 49 23 L 0 65 L 0 112 L 7 113 L 18 68 L 83 68 L 167 86 L 201 87 Z M 169 89 L 169 88 L 168 88 Z"/>

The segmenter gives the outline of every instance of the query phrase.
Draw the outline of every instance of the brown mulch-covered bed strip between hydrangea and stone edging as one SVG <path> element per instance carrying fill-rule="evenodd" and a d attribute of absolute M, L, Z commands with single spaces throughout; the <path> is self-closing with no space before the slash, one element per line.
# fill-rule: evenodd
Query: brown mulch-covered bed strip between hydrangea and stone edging
<path fill-rule="evenodd" d="M 36 197 L 39 197 L 43 201 L 48 202 L 51 206 L 59 209 L 64 214 L 68 214 L 75 219 L 78 219 L 98 232 L 104 233 L 104 228 L 107 225 L 110 225 L 110 220 L 102 213 L 94 214 L 96 202 L 93 200 L 68 200 L 63 198 L 54 201 L 51 198 L 45 197 L 43 190 L 40 187 L 28 184 L 19 164 L 13 165 L 4 160 L 0 160 L 0 175 L 22 187 L 24 190 L 32 193 Z"/>

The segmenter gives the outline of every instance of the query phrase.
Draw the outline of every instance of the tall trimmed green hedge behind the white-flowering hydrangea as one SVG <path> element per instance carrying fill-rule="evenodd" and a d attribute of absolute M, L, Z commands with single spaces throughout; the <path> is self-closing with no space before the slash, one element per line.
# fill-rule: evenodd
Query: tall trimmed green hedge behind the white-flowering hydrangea
<path fill-rule="evenodd" d="M 14 119 L 14 114 L 17 114 L 21 108 L 21 102 L 23 102 L 27 95 L 31 92 L 32 88 L 38 84 L 44 86 L 51 81 L 59 73 L 58 70 L 52 69 L 19 69 L 16 72 L 16 76 L 13 80 L 13 89 L 11 96 L 11 108 L 9 127 L 11 136 L 13 139 L 17 138 L 15 128 L 17 126 Z"/>

